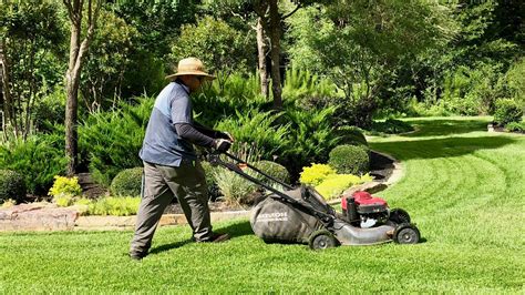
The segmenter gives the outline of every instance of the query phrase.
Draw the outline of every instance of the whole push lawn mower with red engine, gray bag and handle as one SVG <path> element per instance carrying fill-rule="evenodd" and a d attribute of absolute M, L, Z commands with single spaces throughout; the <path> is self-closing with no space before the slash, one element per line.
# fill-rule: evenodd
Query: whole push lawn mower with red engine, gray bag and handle
<path fill-rule="evenodd" d="M 207 160 L 270 192 L 253 208 L 250 216 L 254 233 L 266 243 L 308 243 L 312 250 L 322 250 L 420 241 L 420 231 L 411 223 L 410 215 L 401 208 L 391 210 L 380 197 L 356 192 L 342 199 L 342 213 L 339 213 L 312 186 L 294 187 L 229 153 L 223 154 L 230 160 L 223 160 L 218 152 L 209 153 Z M 262 180 L 249 175 L 246 169 L 264 176 Z M 265 179 L 282 189 L 269 185 Z"/>

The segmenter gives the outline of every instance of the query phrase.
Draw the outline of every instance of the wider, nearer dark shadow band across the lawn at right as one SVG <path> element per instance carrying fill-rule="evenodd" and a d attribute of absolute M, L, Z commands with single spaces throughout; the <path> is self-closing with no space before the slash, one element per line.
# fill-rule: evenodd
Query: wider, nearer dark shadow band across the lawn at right
<path fill-rule="evenodd" d="M 477 150 L 498 149 L 515 143 L 509 136 L 450 138 L 373 143 L 373 149 L 393 153 L 398 160 L 461 156 Z"/>

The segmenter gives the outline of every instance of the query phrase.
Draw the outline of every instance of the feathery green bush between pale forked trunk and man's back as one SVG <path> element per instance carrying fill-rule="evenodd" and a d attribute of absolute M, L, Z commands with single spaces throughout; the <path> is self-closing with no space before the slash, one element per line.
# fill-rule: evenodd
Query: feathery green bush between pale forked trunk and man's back
<path fill-rule="evenodd" d="M 122 103 L 119 110 L 91 114 L 79 126 L 79 148 L 97 183 L 110 186 L 120 171 L 142 165 L 138 151 L 153 103 L 148 98 Z"/>

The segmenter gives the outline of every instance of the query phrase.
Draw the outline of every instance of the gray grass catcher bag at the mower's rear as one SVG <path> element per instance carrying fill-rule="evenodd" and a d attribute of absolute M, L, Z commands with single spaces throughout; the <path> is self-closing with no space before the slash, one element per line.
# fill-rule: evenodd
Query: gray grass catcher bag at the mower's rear
<path fill-rule="evenodd" d="M 286 194 L 303 202 L 300 189 L 287 191 Z M 308 243 L 310 235 L 322 227 L 319 218 L 275 195 L 268 195 L 253 208 L 250 224 L 254 233 L 267 243 Z"/>

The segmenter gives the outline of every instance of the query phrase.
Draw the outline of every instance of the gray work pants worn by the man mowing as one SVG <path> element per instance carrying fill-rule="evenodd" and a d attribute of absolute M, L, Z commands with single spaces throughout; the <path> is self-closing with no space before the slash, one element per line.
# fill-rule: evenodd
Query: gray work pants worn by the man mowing
<path fill-rule="evenodd" d="M 183 161 L 178 167 L 144 162 L 143 190 L 130 254 L 147 253 L 158 221 L 174 196 L 178 199 L 194 238 L 206 241 L 212 237 L 206 176 L 198 161 Z"/>

